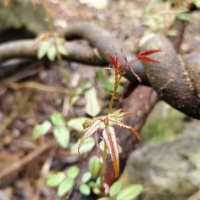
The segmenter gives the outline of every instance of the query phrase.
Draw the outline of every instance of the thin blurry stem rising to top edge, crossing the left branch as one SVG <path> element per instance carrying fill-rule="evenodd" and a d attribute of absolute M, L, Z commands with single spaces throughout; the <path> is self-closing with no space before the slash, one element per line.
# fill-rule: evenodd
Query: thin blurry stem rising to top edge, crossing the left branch
<path fill-rule="evenodd" d="M 41 4 L 42 4 L 42 7 L 43 7 L 44 12 L 45 12 L 45 17 L 46 17 L 46 20 L 47 20 L 47 23 L 48 23 L 50 33 L 51 33 L 53 40 L 54 40 L 54 45 L 55 45 L 55 49 L 56 49 L 56 57 L 58 59 L 59 65 L 61 66 L 61 69 L 62 69 L 62 72 L 63 72 L 65 85 L 66 85 L 66 88 L 68 89 L 68 92 L 69 92 L 69 99 L 71 99 L 71 90 L 70 90 L 70 87 L 69 87 L 69 84 L 68 84 L 69 78 L 68 78 L 67 73 L 65 71 L 62 56 L 61 56 L 60 52 L 58 51 L 58 44 L 57 44 L 57 41 L 56 41 L 56 35 L 55 35 L 54 28 L 53 28 L 53 23 L 51 21 L 51 17 L 49 15 L 49 12 L 48 12 L 48 9 L 47 9 L 47 6 L 46 6 L 46 0 L 41 0 Z"/>

